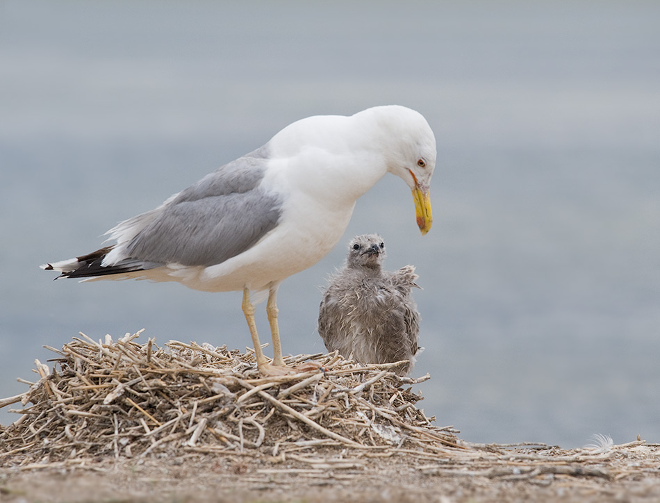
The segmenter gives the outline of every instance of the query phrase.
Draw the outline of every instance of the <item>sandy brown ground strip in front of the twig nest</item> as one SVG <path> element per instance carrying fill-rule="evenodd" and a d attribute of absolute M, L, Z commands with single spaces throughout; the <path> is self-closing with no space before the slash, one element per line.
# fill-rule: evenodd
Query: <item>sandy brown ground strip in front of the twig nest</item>
<path fill-rule="evenodd" d="M 594 453 L 481 447 L 428 462 L 368 456 L 337 449 L 288 459 L 185 454 L 24 465 L 0 468 L 0 501 L 660 501 L 660 447 L 640 442 Z"/>

